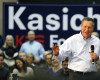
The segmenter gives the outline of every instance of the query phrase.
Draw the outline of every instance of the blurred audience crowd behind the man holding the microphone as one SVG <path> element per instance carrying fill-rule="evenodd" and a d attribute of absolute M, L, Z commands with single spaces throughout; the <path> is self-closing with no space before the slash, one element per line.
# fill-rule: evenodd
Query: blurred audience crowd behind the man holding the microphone
<path fill-rule="evenodd" d="M 0 36 L 0 80 L 68 80 L 68 57 L 60 62 L 35 41 L 34 31 L 27 35 L 28 41 L 19 51 L 12 35 L 7 35 L 4 43 Z M 93 35 L 99 37 L 96 32 Z"/>

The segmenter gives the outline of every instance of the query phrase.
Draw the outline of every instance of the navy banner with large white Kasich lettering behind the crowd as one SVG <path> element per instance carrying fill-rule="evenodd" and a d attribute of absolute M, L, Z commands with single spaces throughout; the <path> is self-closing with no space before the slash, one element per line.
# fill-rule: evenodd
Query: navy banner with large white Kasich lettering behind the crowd
<path fill-rule="evenodd" d="M 13 35 L 18 48 L 27 41 L 27 32 L 34 30 L 36 40 L 46 50 L 81 30 L 84 17 L 95 20 L 95 31 L 100 33 L 100 5 L 65 4 L 3 4 L 3 33 Z"/>

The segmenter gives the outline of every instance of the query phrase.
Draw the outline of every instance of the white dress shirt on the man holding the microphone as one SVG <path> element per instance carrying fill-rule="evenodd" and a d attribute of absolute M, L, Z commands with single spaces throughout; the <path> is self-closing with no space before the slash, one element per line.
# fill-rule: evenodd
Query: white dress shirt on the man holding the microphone
<path fill-rule="evenodd" d="M 85 39 L 81 32 L 75 34 L 65 40 L 59 47 L 59 55 L 57 56 L 60 61 L 69 57 L 68 68 L 80 72 L 96 72 L 96 63 L 100 63 L 100 58 L 94 64 L 90 56 L 91 45 L 94 45 L 94 53 L 100 56 L 100 40 L 99 38 L 91 35 L 90 38 Z"/>

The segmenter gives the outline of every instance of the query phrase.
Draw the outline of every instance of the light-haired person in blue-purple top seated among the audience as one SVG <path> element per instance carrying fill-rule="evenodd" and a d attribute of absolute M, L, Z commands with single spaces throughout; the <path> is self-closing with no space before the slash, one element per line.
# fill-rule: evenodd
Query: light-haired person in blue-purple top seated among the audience
<path fill-rule="evenodd" d="M 51 76 L 57 76 L 62 71 L 62 66 L 61 66 L 59 60 L 55 56 L 53 56 L 51 60 L 52 60 L 52 66 L 53 67 L 49 68 L 47 72 Z"/>

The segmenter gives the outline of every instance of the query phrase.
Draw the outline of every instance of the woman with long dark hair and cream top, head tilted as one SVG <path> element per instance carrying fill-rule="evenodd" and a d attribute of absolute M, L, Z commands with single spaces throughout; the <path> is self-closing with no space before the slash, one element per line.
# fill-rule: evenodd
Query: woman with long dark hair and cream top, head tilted
<path fill-rule="evenodd" d="M 34 72 L 31 67 L 27 67 L 25 61 L 22 58 L 16 59 L 14 74 L 17 74 L 21 80 L 32 80 L 34 78 Z"/>

